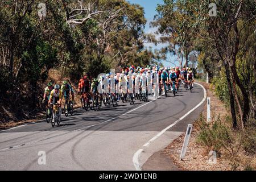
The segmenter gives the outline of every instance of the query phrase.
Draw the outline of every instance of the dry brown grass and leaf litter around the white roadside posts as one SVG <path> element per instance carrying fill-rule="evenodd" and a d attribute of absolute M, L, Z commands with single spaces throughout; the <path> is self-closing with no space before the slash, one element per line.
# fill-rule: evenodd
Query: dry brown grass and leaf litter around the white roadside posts
<path fill-rule="evenodd" d="M 229 111 L 225 108 L 224 104 L 219 101 L 218 98 L 214 95 L 214 92 L 210 88 L 211 86 L 205 83 L 200 84 L 204 85 L 205 89 L 207 90 L 207 97 L 211 98 L 211 108 L 215 112 L 214 114 L 212 114 L 212 116 L 216 117 L 216 115 L 219 114 L 221 118 L 230 116 Z M 204 106 L 202 114 L 206 118 L 207 105 Z M 193 125 L 193 130 L 191 133 L 191 138 L 189 140 L 185 159 L 183 159 L 182 161 L 180 160 L 180 152 L 183 146 L 184 134 L 174 140 L 174 142 L 167 146 L 162 152 L 168 157 L 172 158 L 174 164 L 183 170 L 227 171 L 234 169 L 232 166 L 233 158 L 231 158 L 230 154 L 225 150 L 221 150 L 221 155 L 217 157 L 216 164 L 209 163 L 208 148 L 200 146 L 200 144 L 197 142 L 197 136 L 199 135 L 199 133 L 199 126 L 197 125 L 197 123 L 195 123 Z M 253 168 L 254 170 L 256 169 L 256 156 L 247 155 L 246 152 L 242 149 L 238 151 L 236 155 L 236 160 L 236 162 L 240 164 L 238 167 L 235 167 L 236 170 L 245 170 L 249 168 Z"/>

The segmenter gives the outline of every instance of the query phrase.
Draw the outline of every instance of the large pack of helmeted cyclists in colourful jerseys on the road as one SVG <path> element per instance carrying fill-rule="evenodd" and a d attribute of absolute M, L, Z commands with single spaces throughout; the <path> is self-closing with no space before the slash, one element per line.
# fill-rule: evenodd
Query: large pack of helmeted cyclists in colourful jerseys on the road
<path fill-rule="evenodd" d="M 155 65 L 154 67 L 134 67 L 131 65 L 129 67 L 121 69 L 117 73 L 108 73 L 105 76 L 102 76 L 101 79 L 98 78 L 89 78 L 85 73 L 79 80 L 78 92 L 80 94 L 89 94 L 94 96 L 98 92 L 98 85 L 101 84 L 102 89 L 105 88 L 106 94 L 110 94 L 110 90 L 114 88 L 115 94 L 127 93 L 135 97 L 137 94 L 165 94 L 166 90 L 173 88 L 172 84 L 175 83 L 175 92 L 179 88 L 179 84 L 182 81 L 183 84 L 189 82 L 193 88 L 194 75 L 191 68 L 182 68 L 179 67 L 170 68 L 170 67 L 159 67 Z M 159 80 L 156 80 L 156 79 Z M 106 79 L 104 81 L 104 79 Z M 114 81 L 111 84 L 111 81 Z M 132 83 L 131 85 L 129 85 Z M 155 88 L 155 83 L 159 84 L 159 88 Z M 106 84 L 107 83 L 107 84 Z M 57 102 L 61 106 L 62 97 L 72 98 L 71 104 L 74 104 L 74 90 L 69 81 L 63 81 L 63 85 L 55 85 L 52 82 L 48 82 L 47 87 L 44 89 L 43 102 L 46 100 L 48 104 Z M 131 88 L 129 88 L 131 86 Z M 166 86 L 166 88 L 165 88 Z M 170 86 L 170 88 L 169 88 Z M 119 90 L 117 92 L 117 90 Z M 140 92 L 141 90 L 141 92 Z M 163 91 L 163 92 L 162 92 Z M 126 95 L 127 95 L 126 94 Z M 117 97 L 119 100 L 119 96 Z"/>

